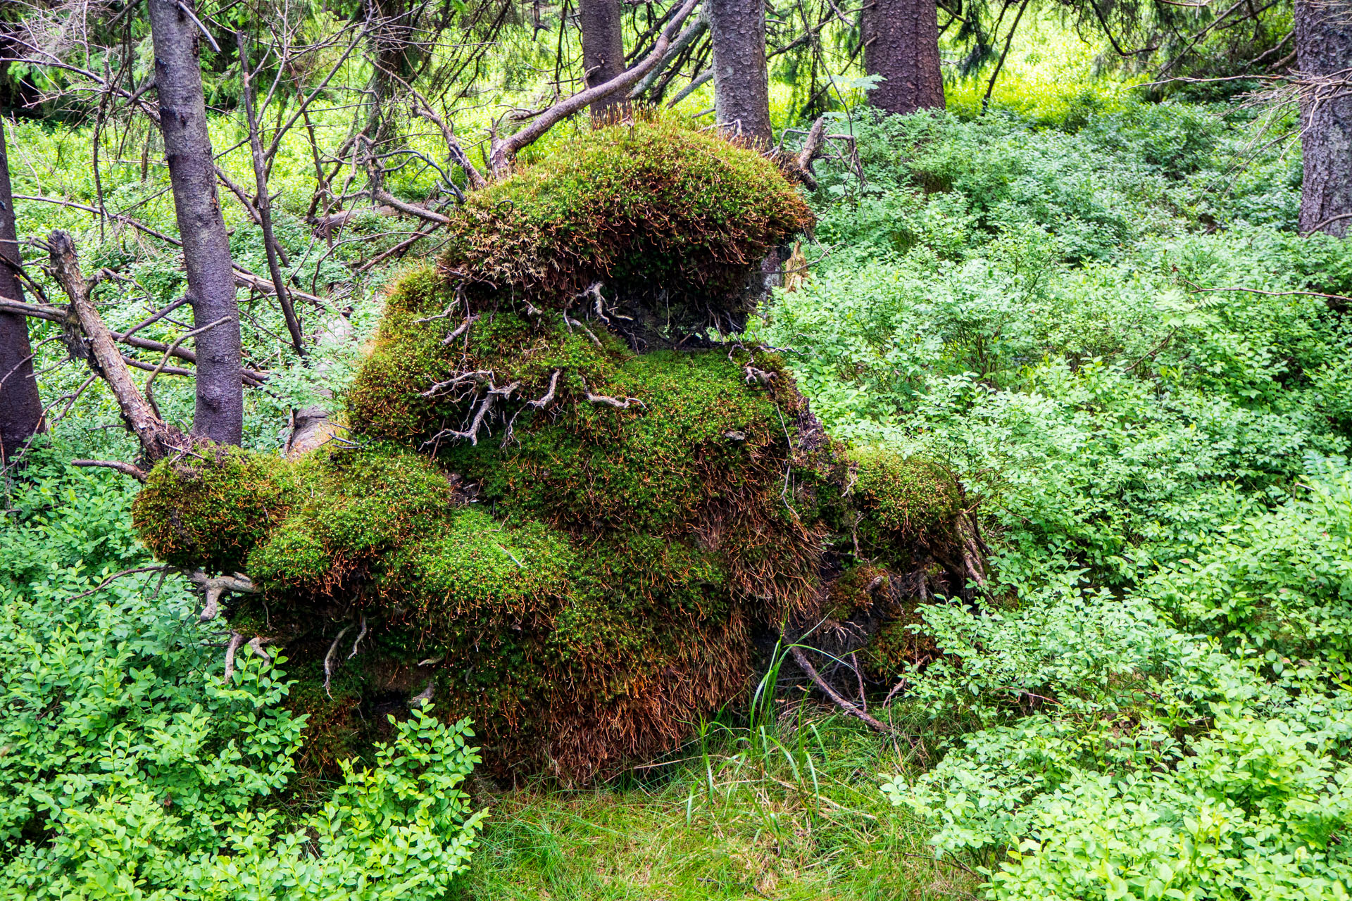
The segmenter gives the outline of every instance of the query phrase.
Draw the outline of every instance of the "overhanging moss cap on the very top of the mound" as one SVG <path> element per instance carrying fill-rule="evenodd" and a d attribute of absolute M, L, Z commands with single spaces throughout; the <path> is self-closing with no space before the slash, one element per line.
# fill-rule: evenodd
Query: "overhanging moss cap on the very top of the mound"
<path fill-rule="evenodd" d="M 452 216 L 443 272 L 473 297 L 606 305 L 677 331 L 746 312 L 748 276 L 810 227 L 771 161 L 669 118 L 639 115 L 564 142 Z M 719 323 L 719 327 L 726 323 Z"/>

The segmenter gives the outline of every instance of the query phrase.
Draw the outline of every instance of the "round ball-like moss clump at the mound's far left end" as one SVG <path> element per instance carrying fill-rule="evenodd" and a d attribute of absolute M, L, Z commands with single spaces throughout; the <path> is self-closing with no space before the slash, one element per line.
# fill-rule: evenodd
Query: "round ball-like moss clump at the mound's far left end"
<path fill-rule="evenodd" d="M 293 503 L 284 470 L 279 458 L 199 442 L 150 470 L 132 525 L 155 557 L 174 566 L 242 570 Z"/>

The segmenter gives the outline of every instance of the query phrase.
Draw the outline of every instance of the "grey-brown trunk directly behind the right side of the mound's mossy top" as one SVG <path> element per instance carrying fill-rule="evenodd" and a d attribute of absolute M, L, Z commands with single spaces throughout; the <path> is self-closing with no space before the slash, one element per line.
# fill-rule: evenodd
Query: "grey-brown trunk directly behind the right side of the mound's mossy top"
<path fill-rule="evenodd" d="M 729 134 L 768 146 L 769 77 L 763 0 L 708 0 L 714 38 L 714 115 Z M 937 22 L 937 19 L 936 19 Z"/>

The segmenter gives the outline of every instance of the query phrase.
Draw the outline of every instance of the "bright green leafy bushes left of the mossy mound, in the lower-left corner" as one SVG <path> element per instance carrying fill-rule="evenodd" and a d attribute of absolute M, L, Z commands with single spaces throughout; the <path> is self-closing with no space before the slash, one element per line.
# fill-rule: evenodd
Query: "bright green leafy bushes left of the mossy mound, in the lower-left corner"
<path fill-rule="evenodd" d="M 26 480 L 0 532 L 0 894 L 442 897 L 483 817 L 468 724 L 415 711 L 318 810 L 279 806 L 306 727 L 284 658 L 241 652 L 223 681 L 185 580 L 108 580 L 149 563 L 126 486 L 43 461 Z"/>

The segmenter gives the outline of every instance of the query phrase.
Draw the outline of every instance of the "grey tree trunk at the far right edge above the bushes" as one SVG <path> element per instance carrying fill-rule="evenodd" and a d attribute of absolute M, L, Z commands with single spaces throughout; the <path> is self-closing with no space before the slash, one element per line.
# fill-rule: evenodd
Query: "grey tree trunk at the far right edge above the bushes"
<path fill-rule="evenodd" d="M 1298 0 L 1295 63 L 1301 96 L 1301 231 L 1352 230 L 1352 8 Z"/>

